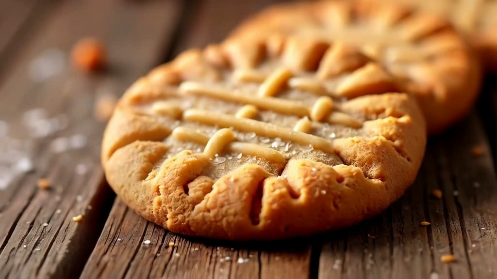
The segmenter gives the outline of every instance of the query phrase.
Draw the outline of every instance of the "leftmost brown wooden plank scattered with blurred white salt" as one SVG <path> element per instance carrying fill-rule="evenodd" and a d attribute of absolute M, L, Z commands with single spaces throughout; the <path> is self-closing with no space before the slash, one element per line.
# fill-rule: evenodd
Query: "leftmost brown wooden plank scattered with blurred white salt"
<path fill-rule="evenodd" d="M 179 7 L 172 0 L 66 1 L 23 44 L 0 88 L 5 100 L 0 104 L 0 119 L 8 120 L 9 137 L 27 139 L 34 146 L 26 156 L 34 157 L 35 171 L 0 190 L 1 278 L 64 278 L 83 269 L 113 197 L 102 184 L 99 151 L 104 125 L 92 115 L 95 96 L 102 91 L 122 94 L 157 63 L 166 51 Z M 87 35 L 107 44 L 110 69 L 104 75 L 86 77 L 69 69 L 72 45 Z M 63 69 L 33 80 L 29 69 L 40 56 L 47 59 L 47 49 L 52 52 L 45 66 Z M 59 62 L 62 66 L 53 65 Z M 42 108 L 50 117 L 60 114 L 70 128 L 32 139 L 19 128 L 23 127 L 19 120 L 26 116 L 23 112 L 31 108 Z M 55 137 L 79 139 L 82 148 L 54 152 L 54 142 L 61 142 Z M 49 178 L 53 189 L 39 190 L 36 179 L 40 177 Z M 84 217 L 76 223 L 72 217 L 78 214 Z"/>

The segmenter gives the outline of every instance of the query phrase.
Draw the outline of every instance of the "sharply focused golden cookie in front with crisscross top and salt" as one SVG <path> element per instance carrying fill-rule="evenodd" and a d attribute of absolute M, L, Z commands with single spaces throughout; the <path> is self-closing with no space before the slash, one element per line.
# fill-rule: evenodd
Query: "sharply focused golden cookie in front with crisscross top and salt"
<path fill-rule="evenodd" d="M 283 239 L 405 192 L 426 143 L 414 97 L 353 47 L 275 43 L 192 49 L 127 90 L 102 146 L 125 203 L 176 233 Z"/>

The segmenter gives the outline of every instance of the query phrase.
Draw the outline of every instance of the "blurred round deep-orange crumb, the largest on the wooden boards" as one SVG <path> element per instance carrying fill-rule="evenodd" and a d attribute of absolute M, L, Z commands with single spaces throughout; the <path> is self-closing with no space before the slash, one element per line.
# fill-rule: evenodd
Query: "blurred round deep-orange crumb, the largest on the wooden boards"
<path fill-rule="evenodd" d="M 107 54 L 103 44 L 95 38 L 78 41 L 71 53 L 73 64 L 85 72 L 101 70 L 106 66 Z"/>

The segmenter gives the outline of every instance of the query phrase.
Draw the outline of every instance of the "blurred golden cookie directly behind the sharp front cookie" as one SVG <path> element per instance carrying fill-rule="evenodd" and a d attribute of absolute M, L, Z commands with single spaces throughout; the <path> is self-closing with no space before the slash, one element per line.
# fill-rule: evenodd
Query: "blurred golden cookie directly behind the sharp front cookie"
<path fill-rule="evenodd" d="M 229 40 L 297 36 L 353 44 L 413 93 L 428 124 L 442 132 L 463 118 L 480 88 L 479 60 L 440 17 L 398 4 L 314 1 L 271 6 L 245 20 Z M 357 63 L 360 63 L 357 62 Z"/>

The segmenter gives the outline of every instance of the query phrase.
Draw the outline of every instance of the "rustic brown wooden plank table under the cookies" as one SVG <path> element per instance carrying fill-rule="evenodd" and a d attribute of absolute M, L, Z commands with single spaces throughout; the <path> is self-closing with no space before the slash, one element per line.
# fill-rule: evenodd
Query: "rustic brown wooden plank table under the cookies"
<path fill-rule="evenodd" d="M 271 243 L 189 239 L 115 198 L 99 165 L 105 124 L 94 118 L 95 98 L 119 96 L 152 67 L 221 40 L 271 2 L 0 2 L 0 278 L 497 278 L 491 78 L 473 112 L 429 140 L 406 195 L 350 229 Z M 71 47 L 87 35 L 107 45 L 106 73 L 71 68 Z M 44 177 L 49 191 L 36 185 Z M 430 197 L 434 189 L 441 199 Z M 457 262 L 442 263 L 444 254 Z"/>

